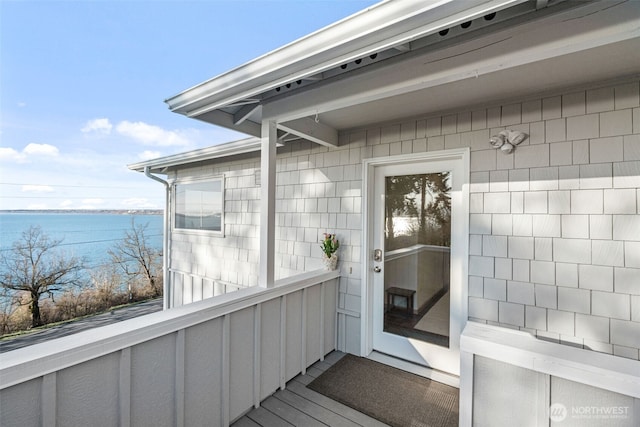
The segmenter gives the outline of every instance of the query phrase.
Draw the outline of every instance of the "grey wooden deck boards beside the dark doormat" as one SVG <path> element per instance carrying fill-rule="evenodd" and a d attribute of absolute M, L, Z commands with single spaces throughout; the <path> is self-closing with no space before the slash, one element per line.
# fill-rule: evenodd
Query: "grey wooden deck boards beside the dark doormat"
<path fill-rule="evenodd" d="M 343 356 L 344 353 L 337 351 L 327 355 L 324 361 L 317 362 L 307 369 L 306 375 L 298 375 L 289 381 L 284 390 L 278 390 L 264 400 L 260 408 L 253 409 L 232 425 L 234 427 L 387 426 L 307 388 L 307 384 Z"/>

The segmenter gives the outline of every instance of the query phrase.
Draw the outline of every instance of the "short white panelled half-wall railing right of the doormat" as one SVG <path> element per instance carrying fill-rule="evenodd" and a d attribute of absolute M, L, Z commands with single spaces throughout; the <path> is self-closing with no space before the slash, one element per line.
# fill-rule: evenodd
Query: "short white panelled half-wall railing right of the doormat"
<path fill-rule="evenodd" d="M 460 357 L 460 426 L 563 425 L 564 418 L 564 425 L 596 425 L 596 415 L 607 414 L 612 416 L 601 418 L 603 425 L 639 425 L 637 360 L 476 322 L 462 332 Z M 564 412 L 550 412 L 556 405 Z M 611 411 L 619 412 L 618 419 Z"/>

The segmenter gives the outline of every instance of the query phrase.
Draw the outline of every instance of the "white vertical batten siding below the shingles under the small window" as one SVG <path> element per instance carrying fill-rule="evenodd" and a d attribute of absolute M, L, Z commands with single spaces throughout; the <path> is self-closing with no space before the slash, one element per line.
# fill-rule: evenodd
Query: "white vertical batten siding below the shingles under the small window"
<path fill-rule="evenodd" d="M 169 307 L 172 308 L 248 287 L 176 269 L 171 269 L 169 273 L 171 277 Z"/>

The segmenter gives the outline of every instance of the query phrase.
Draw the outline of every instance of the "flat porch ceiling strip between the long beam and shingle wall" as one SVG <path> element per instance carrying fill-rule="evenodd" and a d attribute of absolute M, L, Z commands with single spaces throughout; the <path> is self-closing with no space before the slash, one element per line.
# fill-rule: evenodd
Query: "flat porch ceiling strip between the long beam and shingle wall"
<path fill-rule="evenodd" d="M 428 118 L 462 111 L 484 111 L 487 106 L 520 103 L 557 94 L 558 90 L 589 87 L 605 81 L 640 78 L 640 51 L 636 41 L 607 45 L 589 52 L 521 65 L 489 74 L 416 90 L 384 99 L 327 111 L 322 122 L 336 129 L 365 128 L 410 118 Z M 594 61 L 599 56 L 602 61 Z M 631 59 L 631 61 L 629 60 Z M 571 70 L 559 72 L 559 70 Z"/>

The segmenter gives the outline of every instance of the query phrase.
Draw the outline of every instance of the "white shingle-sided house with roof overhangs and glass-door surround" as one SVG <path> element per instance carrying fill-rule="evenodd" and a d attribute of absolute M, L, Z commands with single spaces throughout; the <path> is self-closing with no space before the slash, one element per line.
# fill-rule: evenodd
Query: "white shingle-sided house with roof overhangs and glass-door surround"
<path fill-rule="evenodd" d="M 460 425 L 637 425 L 638 51 L 637 1 L 386 1 L 170 98 L 249 138 L 130 165 L 166 179 L 167 307 L 273 291 L 335 233 L 338 349 L 460 387 Z M 505 130 L 526 137 L 508 153 Z M 440 171 L 444 345 L 382 326 L 405 269 L 385 262 L 381 183 Z M 176 225 L 202 183 L 219 231 Z"/>

